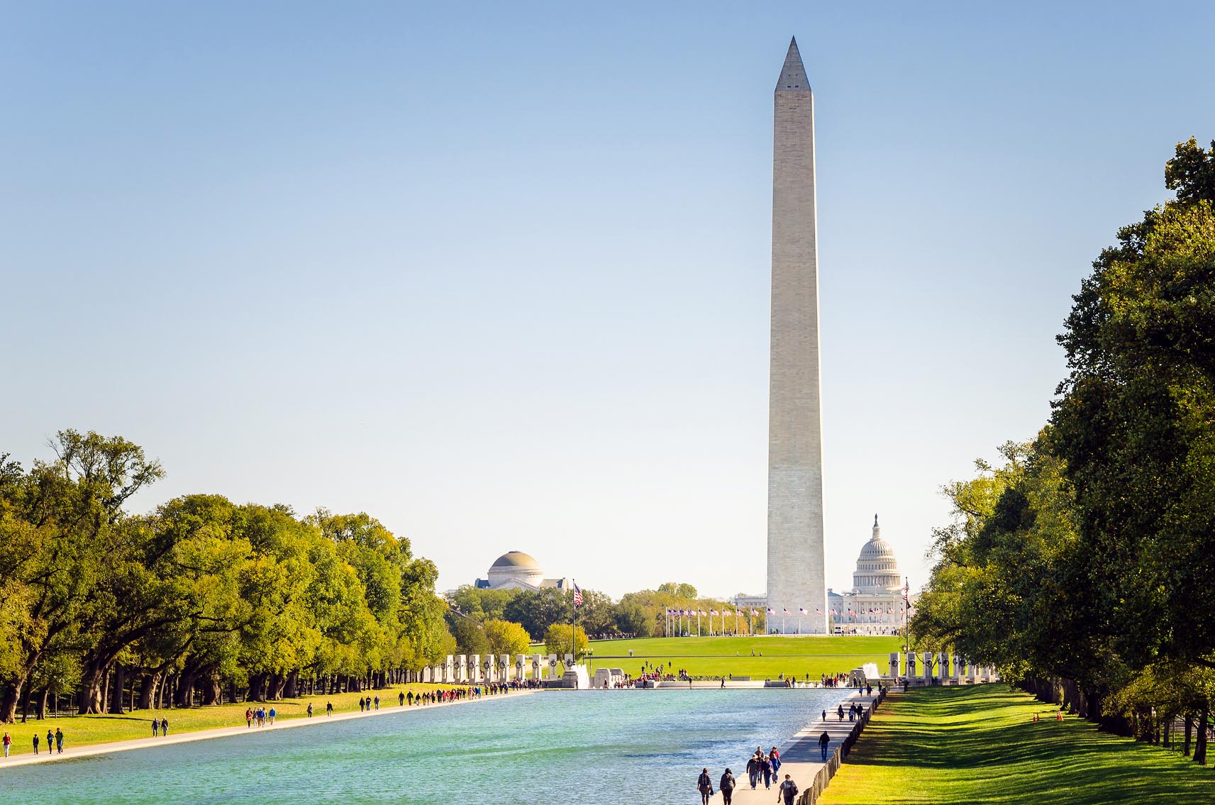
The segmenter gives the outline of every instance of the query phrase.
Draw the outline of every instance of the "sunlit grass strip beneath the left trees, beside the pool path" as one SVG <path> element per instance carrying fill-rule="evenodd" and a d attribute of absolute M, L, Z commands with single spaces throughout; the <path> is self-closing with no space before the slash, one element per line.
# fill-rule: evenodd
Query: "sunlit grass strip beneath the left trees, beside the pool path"
<path fill-rule="evenodd" d="M 338 693 L 335 696 L 306 696 L 296 699 L 284 699 L 281 702 L 267 702 L 266 708 L 273 707 L 275 720 L 307 718 L 309 702 L 312 703 L 312 718 L 324 718 L 326 702 L 333 702 L 334 713 L 346 713 L 358 710 L 360 696 L 379 696 L 380 709 L 397 707 L 399 691 L 433 691 L 450 685 L 395 685 L 382 691 L 369 691 L 364 693 Z M 12 736 L 12 754 L 26 754 L 34 752 L 34 732 L 41 737 L 39 752 L 46 750 L 46 730 L 53 732 L 56 729 L 63 730 L 64 747 L 81 747 L 90 743 L 107 743 L 109 741 L 129 741 L 131 738 L 152 737 L 152 716 L 169 719 L 169 735 L 177 732 L 194 732 L 198 730 L 214 730 L 216 727 L 234 727 L 244 725 L 244 709 L 254 703 L 217 704 L 213 707 L 196 707 L 187 709 L 165 710 L 135 710 L 126 715 L 60 715 L 35 721 L 33 718 L 22 724 L 18 715 L 17 724 L 4 726 Z M 256 709 L 256 708 L 254 708 Z"/>

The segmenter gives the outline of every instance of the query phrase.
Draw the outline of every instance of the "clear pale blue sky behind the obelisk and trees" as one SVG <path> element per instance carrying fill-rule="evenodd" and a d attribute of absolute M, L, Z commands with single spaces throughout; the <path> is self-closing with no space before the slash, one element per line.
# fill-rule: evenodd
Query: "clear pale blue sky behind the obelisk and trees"
<path fill-rule="evenodd" d="M 858 4 L 852 4 L 858 5 Z M 0 452 L 762 591 L 772 91 L 815 91 L 827 584 L 1032 437 L 1118 226 L 1215 137 L 1210 4 L 0 12 Z M 985 4 L 982 4 L 985 5 Z"/>

